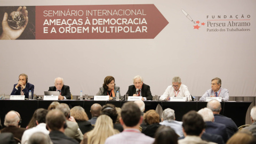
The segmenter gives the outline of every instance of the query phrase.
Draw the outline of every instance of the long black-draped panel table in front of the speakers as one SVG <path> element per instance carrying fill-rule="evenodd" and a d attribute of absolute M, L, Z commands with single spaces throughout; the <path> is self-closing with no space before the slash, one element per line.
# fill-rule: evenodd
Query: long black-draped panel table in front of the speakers
<path fill-rule="evenodd" d="M 47 109 L 53 101 L 45 100 L 0 100 L 0 116 L 1 123 L 4 124 L 4 117 L 10 110 L 18 111 L 22 118 L 21 127 L 26 127 L 29 123 L 34 111 L 38 108 Z M 85 101 L 85 100 L 59 100 L 60 103 L 67 103 L 70 108 L 81 106 L 85 109 L 89 119 L 91 118 L 90 109 L 94 103 L 101 106 L 111 103 L 116 107 L 122 107 L 127 101 Z M 245 124 L 246 111 L 252 102 L 221 102 L 221 115 L 225 115 L 233 119 L 237 126 Z M 145 101 L 145 111 L 156 109 L 157 105 L 161 105 L 163 109 L 171 108 L 175 110 L 177 121 L 181 121 L 182 116 L 190 110 L 200 110 L 206 107 L 207 102 L 189 101 L 189 102 L 167 102 L 167 101 Z"/>

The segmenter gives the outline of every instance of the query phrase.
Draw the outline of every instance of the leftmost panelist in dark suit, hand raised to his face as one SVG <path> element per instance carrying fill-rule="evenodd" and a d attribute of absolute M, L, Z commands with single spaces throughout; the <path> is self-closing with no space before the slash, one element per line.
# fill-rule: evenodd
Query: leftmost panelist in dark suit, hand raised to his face
<path fill-rule="evenodd" d="M 34 85 L 28 83 L 28 75 L 20 74 L 18 84 L 14 84 L 11 95 L 25 95 L 25 98 L 28 98 L 29 90 L 33 99 Z"/>

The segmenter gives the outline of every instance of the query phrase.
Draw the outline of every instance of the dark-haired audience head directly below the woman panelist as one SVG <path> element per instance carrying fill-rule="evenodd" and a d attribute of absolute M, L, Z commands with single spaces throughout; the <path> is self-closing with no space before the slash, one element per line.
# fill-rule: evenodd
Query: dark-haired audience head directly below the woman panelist
<path fill-rule="evenodd" d="M 104 105 L 101 109 L 101 115 L 108 115 L 113 120 L 113 123 L 116 123 L 118 116 L 116 106 L 112 104 Z"/>

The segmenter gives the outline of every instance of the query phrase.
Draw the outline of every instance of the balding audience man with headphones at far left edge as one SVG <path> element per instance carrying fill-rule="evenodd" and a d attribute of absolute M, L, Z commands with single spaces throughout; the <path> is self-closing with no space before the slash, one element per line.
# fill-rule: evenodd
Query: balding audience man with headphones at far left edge
<path fill-rule="evenodd" d="M 21 140 L 22 135 L 26 129 L 20 128 L 20 124 L 21 124 L 20 114 L 17 111 L 13 111 L 13 110 L 9 111 L 9 113 L 7 113 L 4 118 L 4 125 L 6 127 L 2 129 L 1 132 L 2 133 L 10 132 L 13 134 L 15 138 L 18 138 Z"/>

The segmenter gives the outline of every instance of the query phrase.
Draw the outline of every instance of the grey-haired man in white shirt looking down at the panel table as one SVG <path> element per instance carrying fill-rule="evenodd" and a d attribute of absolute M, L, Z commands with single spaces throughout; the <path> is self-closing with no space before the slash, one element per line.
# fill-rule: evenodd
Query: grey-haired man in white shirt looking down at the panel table
<path fill-rule="evenodd" d="M 161 95 L 159 100 L 170 100 L 170 97 L 186 97 L 190 95 L 188 87 L 181 84 L 181 79 L 178 76 L 172 78 L 172 85 L 168 86 L 164 94 Z M 190 96 L 189 96 L 190 97 Z M 191 100 L 191 97 L 190 97 Z"/>

